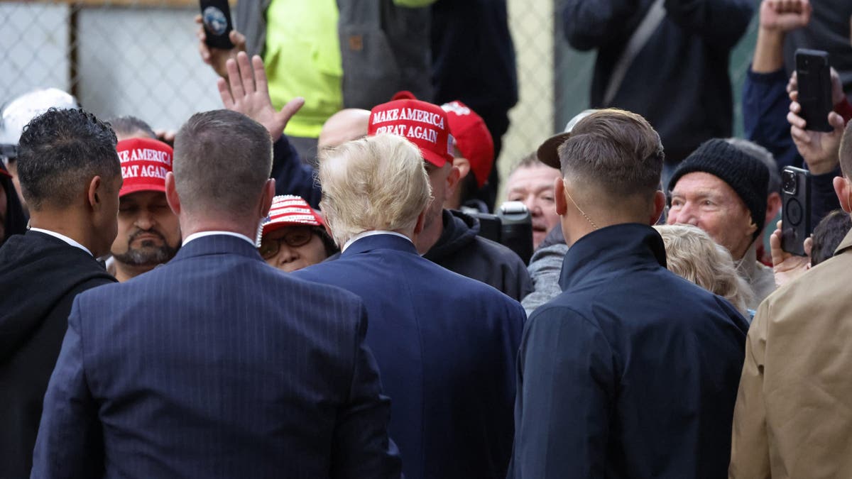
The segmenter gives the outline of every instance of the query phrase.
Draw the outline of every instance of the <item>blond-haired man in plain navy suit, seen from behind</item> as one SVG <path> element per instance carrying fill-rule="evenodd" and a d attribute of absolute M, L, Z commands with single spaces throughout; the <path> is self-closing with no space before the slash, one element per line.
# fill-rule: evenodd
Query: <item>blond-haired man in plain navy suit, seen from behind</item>
<path fill-rule="evenodd" d="M 405 476 L 505 476 L 521 305 L 417 254 L 434 199 L 405 138 L 379 134 L 325 151 L 320 182 L 343 253 L 294 275 L 364 300 Z"/>

